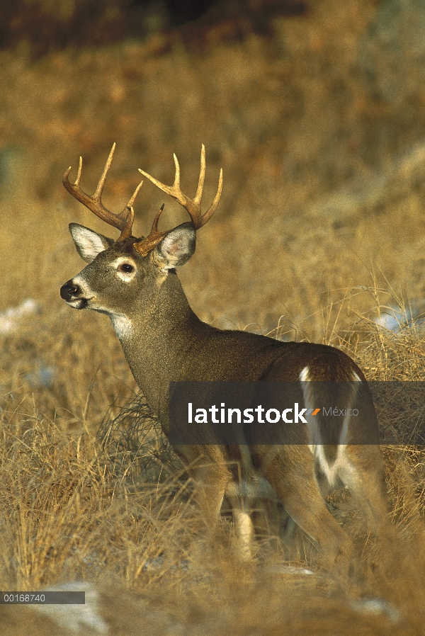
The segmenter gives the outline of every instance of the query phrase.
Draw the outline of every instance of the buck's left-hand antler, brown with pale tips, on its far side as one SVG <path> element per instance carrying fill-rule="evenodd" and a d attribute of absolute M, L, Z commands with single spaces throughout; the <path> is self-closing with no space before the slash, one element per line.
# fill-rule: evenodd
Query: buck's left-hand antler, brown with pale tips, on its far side
<path fill-rule="evenodd" d="M 86 208 L 89 208 L 89 210 L 91 210 L 91 212 L 94 212 L 94 214 L 98 216 L 100 219 L 102 219 L 103 221 L 106 221 L 108 225 L 112 225 L 113 227 L 118 227 L 118 229 L 120 229 L 121 231 L 118 241 L 123 241 L 124 239 L 128 239 L 128 237 L 131 237 L 132 223 L 135 217 L 135 211 L 133 210 L 132 206 L 133 206 L 133 203 L 135 203 L 135 198 L 137 197 L 137 193 L 142 187 L 143 181 L 140 181 L 139 185 L 135 189 L 135 192 L 130 198 L 128 204 L 125 205 L 125 208 L 123 208 L 123 210 L 121 210 L 119 214 L 113 214 L 113 212 L 105 208 L 101 200 L 102 192 L 103 192 L 103 186 L 105 185 L 106 176 L 108 176 L 108 171 L 111 168 L 114 151 L 115 151 L 115 144 L 113 144 L 111 152 L 109 153 L 108 161 L 106 161 L 102 176 L 99 179 L 96 191 L 94 192 L 93 195 L 87 194 L 86 192 L 82 191 L 80 188 L 79 183 L 81 179 L 81 170 L 83 167 L 83 160 L 81 157 L 79 159 L 79 168 L 78 168 L 77 178 L 75 182 L 69 183 L 68 177 L 69 177 L 69 172 L 71 171 L 70 167 L 65 172 L 62 181 L 65 188 L 67 188 L 67 191 L 71 193 L 72 196 L 77 199 L 77 201 L 85 205 Z"/>

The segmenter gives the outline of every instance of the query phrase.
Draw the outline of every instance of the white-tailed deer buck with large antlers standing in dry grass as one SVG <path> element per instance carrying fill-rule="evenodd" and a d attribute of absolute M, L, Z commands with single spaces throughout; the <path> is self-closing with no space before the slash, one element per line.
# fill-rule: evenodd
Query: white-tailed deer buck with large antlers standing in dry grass
<path fill-rule="evenodd" d="M 115 144 L 114 144 L 115 147 Z M 65 283 L 61 296 L 70 307 L 108 314 L 123 346 L 125 358 L 149 407 L 169 436 L 169 382 L 171 381 L 286 381 L 301 387 L 302 406 L 316 412 L 323 404 L 344 407 L 329 416 L 319 413 L 297 424 L 298 440 L 279 445 L 177 445 L 197 485 L 196 500 L 212 527 L 227 497 L 242 543 L 250 543 L 252 525 L 241 492 L 255 492 L 255 484 L 273 489 L 290 517 L 317 545 L 329 564 L 348 567 L 351 539 L 331 516 L 324 487 L 345 484 L 356 496 L 368 529 L 378 532 L 387 515 L 387 494 L 382 457 L 377 443 L 367 444 L 352 435 L 372 431 L 378 439 L 378 421 L 365 377 L 356 363 L 331 346 L 280 342 L 245 331 L 222 331 L 201 322 L 188 305 L 176 268 L 195 251 L 196 231 L 217 208 L 222 174 L 210 208 L 202 214 L 200 202 L 205 179 L 205 149 L 195 198 L 181 192 L 179 162 L 173 186 L 143 175 L 185 208 L 191 220 L 166 232 L 158 231 L 159 210 L 148 237 L 132 236 L 132 205 L 115 215 L 101 203 L 103 186 L 114 147 L 94 195 L 81 190 L 81 158 L 77 180 L 67 191 L 109 225 L 120 230 L 116 241 L 72 223 L 69 229 L 84 261 L 89 263 Z M 322 382 L 322 384 L 320 384 Z M 333 394 L 327 394 L 328 386 Z M 335 388 L 336 387 L 336 388 Z M 328 391 L 328 392 L 329 392 Z M 361 402 L 361 403 L 360 403 Z M 298 406 L 298 405 L 297 405 Z M 358 416 L 353 411 L 358 409 Z M 344 414 L 343 414 L 344 411 Z M 310 412 L 310 411 L 309 411 Z M 339 416 L 339 417 L 338 417 Z M 334 443 L 320 443 L 321 426 L 331 426 Z M 362 428 L 363 427 L 363 428 Z M 315 431 L 315 432 L 314 432 Z M 351 440 L 351 443 L 350 443 Z M 238 467 L 239 466 L 239 467 Z M 251 487 L 241 488 L 242 480 Z M 250 490 L 251 488 L 251 490 Z"/>

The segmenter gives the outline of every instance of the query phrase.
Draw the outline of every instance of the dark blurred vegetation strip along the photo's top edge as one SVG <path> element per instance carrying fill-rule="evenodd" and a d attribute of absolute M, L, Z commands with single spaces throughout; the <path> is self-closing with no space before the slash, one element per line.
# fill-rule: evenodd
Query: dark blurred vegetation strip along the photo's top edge
<path fill-rule="evenodd" d="M 170 34 L 176 27 L 183 37 L 202 40 L 207 31 L 227 21 L 232 23 L 227 39 L 238 40 L 244 28 L 271 34 L 273 18 L 302 15 L 306 8 L 299 0 L 6 1 L 0 8 L 0 45 L 26 42 L 38 57 L 70 45 L 144 40 L 152 33 Z"/>

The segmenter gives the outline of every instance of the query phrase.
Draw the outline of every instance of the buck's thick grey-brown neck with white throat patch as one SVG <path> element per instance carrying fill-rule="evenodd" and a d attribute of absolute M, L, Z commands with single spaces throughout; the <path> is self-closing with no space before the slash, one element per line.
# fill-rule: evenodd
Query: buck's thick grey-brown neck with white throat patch
<path fill-rule="evenodd" d="M 135 302 L 129 316 L 111 316 L 111 322 L 149 407 L 167 418 L 162 411 L 168 411 L 169 382 L 183 379 L 188 351 L 207 325 L 191 310 L 175 273 L 150 289 L 149 298 Z"/>

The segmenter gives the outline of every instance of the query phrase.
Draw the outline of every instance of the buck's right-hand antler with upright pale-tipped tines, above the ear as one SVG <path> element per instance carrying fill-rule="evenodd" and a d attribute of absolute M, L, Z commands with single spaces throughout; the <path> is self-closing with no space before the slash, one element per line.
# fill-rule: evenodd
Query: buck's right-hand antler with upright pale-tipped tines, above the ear
<path fill-rule="evenodd" d="M 212 204 L 210 205 L 210 208 L 208 208 L 207 212 L 205 212 L 205 214 L 202 215 L 200 211 L 200 201 L 202 199 L 203 187 L 205 182 L 205 146 L 204 144 L 202 144 L 202 149 L 200 152 L 200 173 L 199 173 L 199 179 L 198 179 L 198 187 L 196 188 L 196 195 L 193 199 L 189 198 L 188 196 L 183 194 L 183 192 L 181 191 L 180 166 L 179 166 L 179 160 L 177 159 L 175 154 L 174 154 L 174 164 L 176 165 L 176 175 L 174 176 L 174 183 L 172 186 L 166 186 L 164 183 L 161 183 L 161 181 L 158 181 L 156 178 L 154 178 L 150 174 L 147 174 L 147 172 L 141 169 L 139 169 L 139 172 L 141 172 L 142 175 L 148 178 L 149 181 L 152 181 L 152 183 L 154 183 L 154 185 L 157 186 L 157 188 L 159 188 L 166 194 L 169 194 L 174 199 L 176 199 L 176 201 L 178 201 L 178 203 L 180 203 L 180 205 L 182 205 L 183 208 L 185 208 L 185 210 L 188 211 L 191 217 L 191 220 L 193 222 L 193 225 L 196 227 L 196 229 L 199 229 L 200 227 L 205 225 L 205 223 L 212 217 L 215 210 L 217 209 L 217 205 L 220 200 L 220 195 L 222 192 L 222 170 L 220 170 L 220 179 L 219 179 L 215 198 L 212 201 Z"/>

